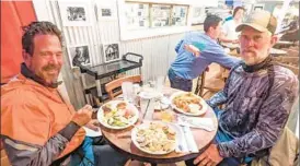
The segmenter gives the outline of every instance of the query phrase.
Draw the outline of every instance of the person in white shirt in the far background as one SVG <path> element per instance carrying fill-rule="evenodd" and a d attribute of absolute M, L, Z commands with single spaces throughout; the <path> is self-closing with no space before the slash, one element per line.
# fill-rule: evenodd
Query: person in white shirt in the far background
<path fill-rule="evenodd" d="M 219 37 L 221 43 L 239 43 L 239 33 L 235 32 L 235 27 L 242 23 L 245 9 L 243 7 L 236 7 L 233 10 L 233 19 L 226 21 L 222 25 L 222 33 Z"/>

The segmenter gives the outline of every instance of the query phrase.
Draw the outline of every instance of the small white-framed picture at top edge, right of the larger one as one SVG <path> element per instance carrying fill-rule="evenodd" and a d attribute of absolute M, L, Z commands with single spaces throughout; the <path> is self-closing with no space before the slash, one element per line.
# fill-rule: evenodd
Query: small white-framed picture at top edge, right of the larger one
<path fill-rule="evenodd" d="M 100 1 L 96 2 L 97 20 L 99 21 L 116 21 L 117 20 L 117 4 L 116 1 Z"/>

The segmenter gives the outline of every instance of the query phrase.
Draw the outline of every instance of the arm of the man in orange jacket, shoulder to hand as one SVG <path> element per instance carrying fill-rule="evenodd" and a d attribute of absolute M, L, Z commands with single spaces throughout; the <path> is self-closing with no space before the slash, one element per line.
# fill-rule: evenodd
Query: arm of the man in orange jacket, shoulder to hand
<path fill-rule="evenodd" d="M 80 132 L 79 128 L 90 121 L 90 108 L 85 106 L 72 117 L 66 117 L 70 122 L 49 138 L 54 126 L 50 112 L 37 98 L 13 99 L 18 94 L 33 96 L 30 91 L 1 96 L 1 141 L 12 165 L 50 165 L 79 146 L 84 138 L 84 131 Z"/>

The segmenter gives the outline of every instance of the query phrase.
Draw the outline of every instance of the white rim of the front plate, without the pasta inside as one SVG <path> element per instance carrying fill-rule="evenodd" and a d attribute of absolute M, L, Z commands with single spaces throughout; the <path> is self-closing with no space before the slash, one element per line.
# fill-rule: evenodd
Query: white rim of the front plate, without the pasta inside
<path fill-rule="evenodd" d="M 162 122 L 162 121 L 151 121 L 151 122 L 158 122 L 158 123 L 163 123 L 163 124 L 166 124 L 169 128 L 171 128 L 172 130 L 174 130 L 176 132 L 176 137 L 175 137 L 175 142 L 173 144 L 173 146 L 170 149 L 170 151 L 160 151 L 160 152 L 152 152 L 152 151 L 148 151 L 146 149 L 142 149 L 139 143 L 137 142 L 137 132 L 138 132 L 138 129 L 147 129 L 149 128 L 150 126 L 150 122 L 145 122 L 145 123 L 141 123 L 137 127 L 135 127 L 132 130 L 131 130 L 131 140 L 134 142 L 134 144 L 142 152 L 145 153 L 148 153 L 148 154 L 153 154 L 153 155 L 163 155 L 163 154 L 169 154 L 171 152 L 173 152 L 177 144 L 178 144 L 178 138 L 182 135 L 181 132 L 180 132 L 180 129 L 172 124 L 172 123 L 169 123 L 169 122 Z"/>

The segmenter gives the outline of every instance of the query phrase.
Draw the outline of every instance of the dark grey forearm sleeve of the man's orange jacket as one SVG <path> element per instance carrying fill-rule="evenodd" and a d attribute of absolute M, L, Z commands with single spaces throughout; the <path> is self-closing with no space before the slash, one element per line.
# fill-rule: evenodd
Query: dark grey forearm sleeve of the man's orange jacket
<path fill-rule="evenodd" d="M 80 126 L 71 121 L 66 128 L 51 137 L 45 145 L 16 141 L 5 135 L 1 135 L 1 141 L 3 142 L 11 165 L 50 165 L 66 149 L 67 143 L 70 142 L 79 128 Z"/>

